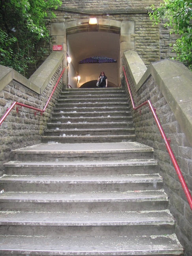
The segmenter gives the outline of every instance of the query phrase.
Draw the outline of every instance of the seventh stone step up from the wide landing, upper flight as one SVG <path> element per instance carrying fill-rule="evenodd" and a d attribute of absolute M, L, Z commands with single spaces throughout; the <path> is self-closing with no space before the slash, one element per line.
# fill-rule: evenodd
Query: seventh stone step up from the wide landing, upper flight
<path fill-rule="evenodd" d="M 102 108 L 108 108 L 108 107 L 128 107 L 128 102 L 95 102 L 95 103 L 89 103 L 89 102 L 84 102 L 84 103 L 57 103 L 55 107 L 58 108 L 83 108 L 83 107 L 98 107 L 100 109 Z"/>

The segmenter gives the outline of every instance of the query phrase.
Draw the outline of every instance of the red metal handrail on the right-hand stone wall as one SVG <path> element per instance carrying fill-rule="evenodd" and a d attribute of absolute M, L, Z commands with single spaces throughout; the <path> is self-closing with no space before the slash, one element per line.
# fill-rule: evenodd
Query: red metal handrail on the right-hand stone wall
<path fill-rule="evenodd" d="M 172 161 L 172 163 L 173 163 L 173 166 L 174 166 L 174 168 L 175 168 L 175 171 L 176 171 L 176 173 L 177 173 L 177 176 L 178 176 L 179 181 L 180 181 L 180 183 L 181 183 L 181 186 L 182 186 L 182 188 L 183 188 L 184 194 L 185 194 L 186 199 L 187 199 L 187 201 L 188 201 L 188 203 L 189 203 L 189 206 L 190 206 L 190 208 L 191 208 L 191 210 L 192 210 L 192 197 L 191 197 L 191 194 L 190 194 L 190 192 L 189 192 L 189 190 L 188 190 L 188 187 L 187 187 L 187 185 L 186 185 L 186 183 L 185 183 L 185 181 L 184 181 L 183 175 L 182 175 L 182 173 L 181 173 L 181 170 L 179 169 L 179 166 L 178 166 L 177 161 L 176 161 L 176 159 L 175 159 L 175 156 L 174 156 L 174 154 L 173 154 L 173 152 L 172 152 L 172 150 L 171 150 L 171 147 L 169 146 L 168 139 L 166 138 L 166 136 L 165 136 L 165 134 L 164 134 L 164 131 L 163 131 L 161 125 L 160 125 L 160 122 L 159 122 L 159 120 L 158 120 L 158 118 L 157 118 L 157 116 L 156 116 L 155 110 L 154 110 L 154 108 L 152 107 L 152 104 L 151 104 L 150 100 L 147 100 L 147 101 L 143 102 L 143 103 L 142 103 L 141 105 L 139 105 L 138 107 L 135 107 L 135 106 L 134 106 L 134 101 L 133 101 L 132 94 L 131 94 L 131 91 L 130 91 L 130 87 L 129 87 L 129 84 L 128 84 L 128 81 L 127 81 L 127 77 L 126 77 L 126 74 L 125 74 L 125 70 L 124 70 L 124 67 L 122 67 L 122 68 L 123 68 L 123 72 L 124 72 L 124 75 L 125 75 L 125 79 L 126 79 L 126 83 L 127 83 L 128 91 L 129 91 L 129 94 L 130 94 L 130 98 L 131 98 L 131 102 L 132 102 L 133 109 L 134 109 L 134 110 L 137 110 L 137 109 L 139 109 L 140 107 L 143 107 L 144 105 L 146 106 L 147 104 L 149 104 L 149 108 L 151 109 L 152 115 L 153 115 L 153 117 L 154 117 L 154 119 L 155 119 L 155 121 L 156 121 L 156 124 L 157 124 L 157 126 L 158 126 L 158 128 L 159 128 L 159 130 L 160 130 L 160 134 L 161 134 L 161 136 L 162 136 L 162 138 L 163 138 L 163 140 L 164 140 L 164 142 L 165 142 L 166 148 L 167 148 L 167 150 L 168 150 L 169 156 L 170 156 L 170 158 L 171 158 L 171 161 Z"/>

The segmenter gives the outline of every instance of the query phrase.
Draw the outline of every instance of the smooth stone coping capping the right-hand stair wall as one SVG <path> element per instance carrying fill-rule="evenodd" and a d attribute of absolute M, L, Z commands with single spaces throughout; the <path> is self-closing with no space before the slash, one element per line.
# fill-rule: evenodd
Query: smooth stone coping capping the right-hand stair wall
<path fill-rule="evenodd" d="M 181 62 L 169 59 L 155 62 L 147 69 L 136 52 L 126 51 L 124 56 L 136 90 L 152 75 L 192 146 L 192 72 Z"/>

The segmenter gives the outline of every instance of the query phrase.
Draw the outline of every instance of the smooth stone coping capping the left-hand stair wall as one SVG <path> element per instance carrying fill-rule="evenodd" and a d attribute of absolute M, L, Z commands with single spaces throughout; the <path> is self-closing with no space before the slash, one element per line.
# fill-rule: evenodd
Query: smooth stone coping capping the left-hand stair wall
<path fill-rule="evenodd" d="M 42 94 L 43 90 L 55 74 L 59 65 L 62 63 L 64 53 L 55 51 L 51 53 L 43 64 L 27 79 L 13 68 L 0 65 L 0 91 L 6 87 L 12 80 L 21 83 L 25 87 Z"/>

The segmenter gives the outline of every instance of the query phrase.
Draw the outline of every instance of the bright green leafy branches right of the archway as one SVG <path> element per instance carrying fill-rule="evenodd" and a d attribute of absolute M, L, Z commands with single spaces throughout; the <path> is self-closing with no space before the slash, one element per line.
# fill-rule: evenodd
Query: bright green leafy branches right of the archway
<path fill-rule="evenodd" d="M 192 70 L 192 0 L 164 0 L 159 8 L 155 9 L 154 5 L 151 8 L 149 16 L 155 24 L 165 19 L 165 26 L 171 28 L 170 34 L 181 35 L 173 49 L 177 59 Z"/>

